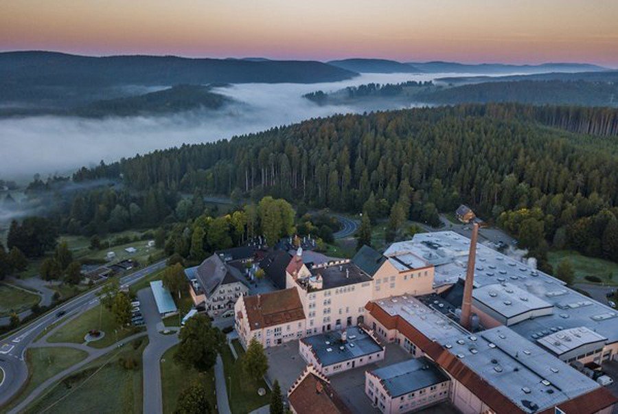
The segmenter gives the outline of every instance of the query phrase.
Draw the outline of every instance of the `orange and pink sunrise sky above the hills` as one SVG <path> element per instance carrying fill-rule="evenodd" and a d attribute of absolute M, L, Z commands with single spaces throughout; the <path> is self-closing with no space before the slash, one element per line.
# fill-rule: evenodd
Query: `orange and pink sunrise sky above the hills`
<path fill-rule="evenodd" d="M 616 0 L 0 0 L 0 50 L 618 67 Z"/>

